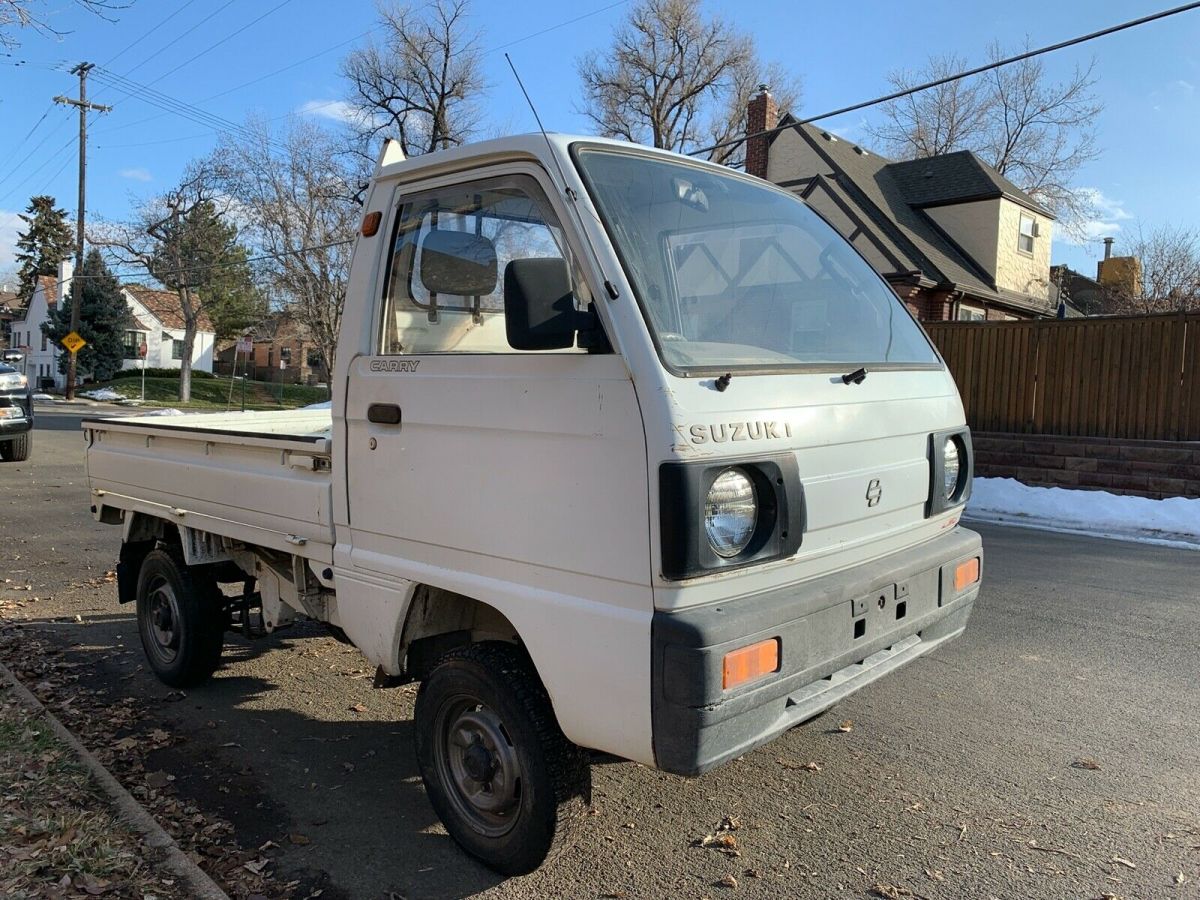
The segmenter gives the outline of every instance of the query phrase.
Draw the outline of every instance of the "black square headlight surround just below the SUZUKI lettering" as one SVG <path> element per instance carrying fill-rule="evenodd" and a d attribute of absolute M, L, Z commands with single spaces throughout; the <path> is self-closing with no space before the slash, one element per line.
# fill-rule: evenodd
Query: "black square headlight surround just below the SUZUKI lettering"
<path fill-rule="evenodd" d="M 704 500 L 726 469 L 737 469 L 754 485 L 758 516 L 746 546 L 722 557 L 708 540 Z M 659 466 L 659 532 L 662 577 L 692 578 L 792 556 L 804 536 L 804 486 L 792 454 L 730 457 Z"/>

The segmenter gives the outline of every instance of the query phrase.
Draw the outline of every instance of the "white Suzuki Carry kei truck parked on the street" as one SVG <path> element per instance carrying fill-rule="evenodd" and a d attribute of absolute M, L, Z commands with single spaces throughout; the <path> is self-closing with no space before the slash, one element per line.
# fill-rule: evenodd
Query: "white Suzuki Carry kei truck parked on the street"
<path fill-rule="evenodd" d="M 380 154 L 331 409 L 86 419 L 119 596 L 169 685 L 328 623 L 420 680 L 469 853 L 530 871 L 589 752 L 697 775 L 960 635 L 954 380 L 792 193 L 534 133 Z"/>

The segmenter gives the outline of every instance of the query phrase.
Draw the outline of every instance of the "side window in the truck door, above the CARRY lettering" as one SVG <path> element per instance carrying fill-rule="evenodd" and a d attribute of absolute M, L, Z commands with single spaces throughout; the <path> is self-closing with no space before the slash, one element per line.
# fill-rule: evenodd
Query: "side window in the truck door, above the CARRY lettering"
<path fill-rule="evenodd" d="M 508 175 L 406 197 L 380 353 L 514 353 L 504 326 L 504 272 L 520 259 L 560 259 L 576 306 L 587 308 L 592 298 L 533 178 Z"/>

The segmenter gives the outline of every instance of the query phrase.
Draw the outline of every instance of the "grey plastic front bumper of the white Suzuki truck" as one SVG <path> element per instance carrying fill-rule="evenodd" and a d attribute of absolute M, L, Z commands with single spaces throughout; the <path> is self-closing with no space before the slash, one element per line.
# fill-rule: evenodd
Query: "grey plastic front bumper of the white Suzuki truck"
<path fill-rule="evenodd" d="M 956 592 L 954 569 L 972 557 L 982 568 L 979 535 L 954 528 L 917 547 L 785 589 L 655 612 L 658 767 L 677 775 L 707 772 L 958 637 L 979 582 Z M 722 690 L 725 654 L 772 637 L 780 641 L 779 671 Z"/>

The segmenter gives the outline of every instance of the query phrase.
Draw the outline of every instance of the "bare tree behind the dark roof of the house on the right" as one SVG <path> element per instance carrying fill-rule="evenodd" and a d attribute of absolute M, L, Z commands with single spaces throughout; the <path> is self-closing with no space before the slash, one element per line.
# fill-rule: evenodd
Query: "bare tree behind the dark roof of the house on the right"
<path fill-rule="evenodd" d="M 989 56 L 996 61 L 1004 53 L 992 44 Z M 906 90 L 966 67 L 961 56 L 940 56 L 889 80 Z M 905 160 L 973 150 L 1073 230 L 1092 211 L 1092 194 L 1073 181 L 1099 155 L 1094 122 L 1103 104 L 1092 91 L 1092 68 L 1052 82 L 1039 59 L 1001 66 L 884 103 L 872 136 L 881 150 Z"/>

